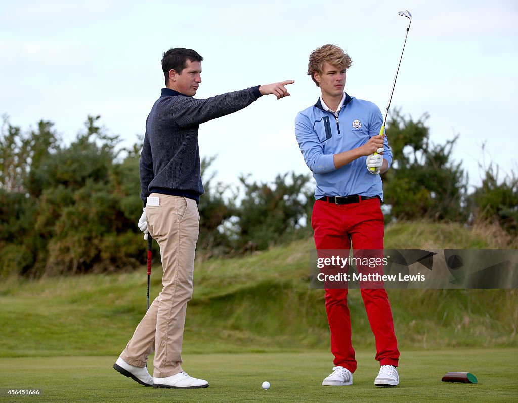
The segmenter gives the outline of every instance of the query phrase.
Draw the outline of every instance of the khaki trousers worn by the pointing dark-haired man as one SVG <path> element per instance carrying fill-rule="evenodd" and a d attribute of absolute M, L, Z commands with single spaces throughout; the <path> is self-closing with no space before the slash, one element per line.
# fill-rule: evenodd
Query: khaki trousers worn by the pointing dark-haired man
<path fill-rule="evenodd" d="M 194 253 L 199 233 L 198 205 L 192 199 L 152 193 L 159 205 L 146 205 L 149 233 L 160 246 L 163 288 L 138 324 L 121 358 L 146 366 L 155 350 L 153 377 L 182 371 L 185 311 L 193 293 Z"/>

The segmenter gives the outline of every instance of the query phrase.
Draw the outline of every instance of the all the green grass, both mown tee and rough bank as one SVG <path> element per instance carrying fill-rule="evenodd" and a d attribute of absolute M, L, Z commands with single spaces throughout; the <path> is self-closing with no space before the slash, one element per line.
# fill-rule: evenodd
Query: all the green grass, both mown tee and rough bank
<path fill-rule="evenodd" d="M 499 247 L 455 225 L 387 227 L 387 248 L 415 247 L 416 239 L 428 248 Z M 516 401 L 516 289 L 389 290 L 402 352 L 401 384 L 390 389 L 373 386 L 373 337 L 352 292 L 354 384 L 321 386 L 332 356 L 322 290 L 307 285 L 312 247 L 303 240 L 196 263 L 184 369 L 209 380 L 202 390 L 145 388 L 111 368 L 145 310 L 145 268 L 1 282 L 0 402 Z M 161 288 L 160 270 L 153 268 L 152 296 Z M 472 372 L 479 384 L 441 382 L 448 371 Z M 265 380 L 269 391 L 261 388 Z M 44 395 L 5 396 L 6 388 L 30 387 Z"/>

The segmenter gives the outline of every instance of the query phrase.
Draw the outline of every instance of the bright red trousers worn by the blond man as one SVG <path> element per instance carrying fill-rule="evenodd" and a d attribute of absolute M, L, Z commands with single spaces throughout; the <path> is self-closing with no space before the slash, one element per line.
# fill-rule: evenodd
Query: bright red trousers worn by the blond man
<path fill-rule="evenodd" d="M 316 201 L 311 225 L 315 246 L 319 249 L 383 249 L 384 220 L 380 200 L 335 204 Z M 325 308 L 331 331 L 334 364 L 351 372 L 356 359 L 351 343 L 351 317 L 347 306 L 347 288 L 326 288 Z M 389 296 L 384 288 L 361 288 L 367 317 L 376 339 L 376 360 L 380 365 L 397 366 L 399 351 Z"/>

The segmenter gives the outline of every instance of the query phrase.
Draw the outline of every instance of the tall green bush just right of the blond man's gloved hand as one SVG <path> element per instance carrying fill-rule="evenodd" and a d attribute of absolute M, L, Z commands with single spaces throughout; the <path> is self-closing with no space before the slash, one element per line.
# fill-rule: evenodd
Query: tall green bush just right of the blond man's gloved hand
<path fill-rule="evenodd" d="M 465 221 L 467 176 L 452 161 L 457 137 L 431 143 L 426 119 L 407 120 L 396 111 L 387 125 L 392 150 L 392 168 L 382 175 L 387 219 Z"/>

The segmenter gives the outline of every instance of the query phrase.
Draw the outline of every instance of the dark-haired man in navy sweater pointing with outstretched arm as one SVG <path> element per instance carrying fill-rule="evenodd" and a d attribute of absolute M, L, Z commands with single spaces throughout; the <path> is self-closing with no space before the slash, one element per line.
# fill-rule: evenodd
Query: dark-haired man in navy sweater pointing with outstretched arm
<path fill-rule="evenodd" d="M 202 82 L 203 58 L 196 51 L 173 48 L 164 53 L 166 88 L 146 121 L 140 158 L 144 211 L 139 228 L 158 242 L 163 289 L 150 305 L 113 367 L 145 386 L 199 388 L 209 383 L 182 370 L 185 310 L 193 291 L 194 253 L 199 232 L 200 175 L 198 127 L 249 106 L 260 96 L 289 96 L 293 80 L 250 87 L 200 100 L 192 98 Z M 154 356 L 153 377 L 147 359 Z"/>

